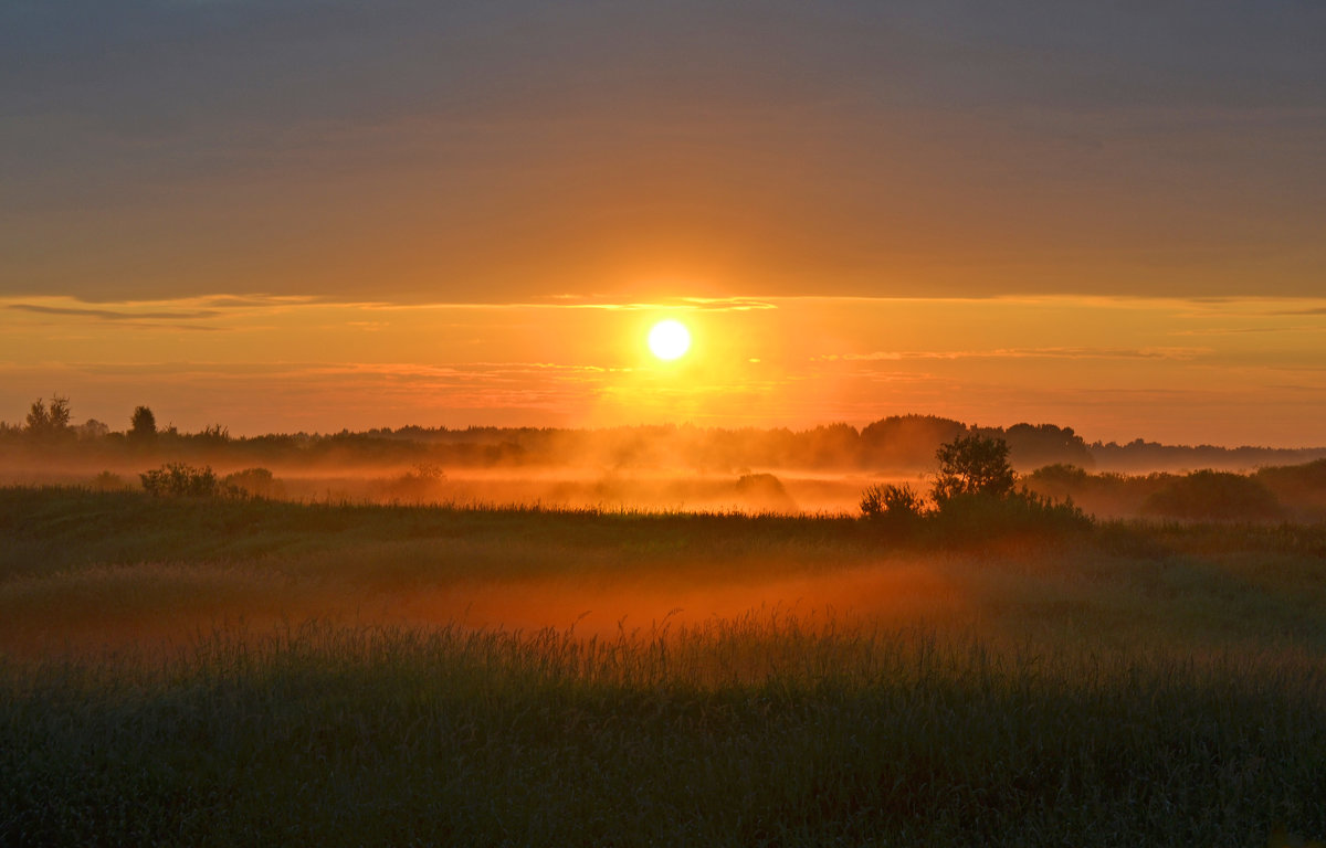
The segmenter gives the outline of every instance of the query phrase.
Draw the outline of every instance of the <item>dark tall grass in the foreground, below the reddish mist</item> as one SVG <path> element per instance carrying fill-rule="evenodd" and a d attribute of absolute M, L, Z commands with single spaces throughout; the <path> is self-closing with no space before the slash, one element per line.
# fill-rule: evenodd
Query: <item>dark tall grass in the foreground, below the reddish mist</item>
<path fill-rule="evenodd" d="M 748 617 L 308 625 L 4 670 L 0 843 L 1258 845 L 1326 833 L 1281 651 L 988 653 Z"/>

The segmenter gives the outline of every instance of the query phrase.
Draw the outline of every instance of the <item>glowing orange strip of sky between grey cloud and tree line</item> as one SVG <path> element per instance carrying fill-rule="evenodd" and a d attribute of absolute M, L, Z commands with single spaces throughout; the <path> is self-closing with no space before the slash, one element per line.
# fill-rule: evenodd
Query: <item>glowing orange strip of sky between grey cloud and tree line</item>
<path fill-rule="evenodd" d="M 145 403 L 232 433 L 404 424 L 866 424 L 928 412 L 1089 440 L 1319 445 L 1326 299 L 732 298 L 525 305 L 0 302 L 0 403 Z M 664 363 L 652 323 L 693 344 Z M 58 351 L 58 358 L 52 356 Z"/>

